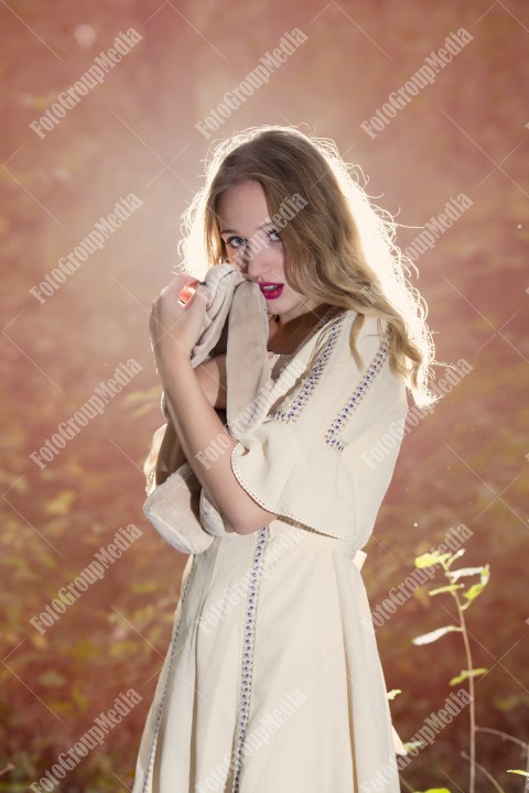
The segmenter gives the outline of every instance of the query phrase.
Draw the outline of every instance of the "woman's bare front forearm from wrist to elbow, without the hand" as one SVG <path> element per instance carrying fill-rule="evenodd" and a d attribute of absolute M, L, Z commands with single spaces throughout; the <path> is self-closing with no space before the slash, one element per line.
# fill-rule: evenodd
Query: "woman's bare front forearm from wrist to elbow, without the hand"
<path fill-rule="evenodd" d="M 182 449 L 213 503 L 239 534 L 270 523 L 276 515 L 248 496 L 231 470 L 231 450 L 237 441 L 209 404 L 188 358 L 173 348 L 159 361 L 159 373 Z M 215 461 L 213 456 L 208 458 L 209 448 L 215 449 Z"/>

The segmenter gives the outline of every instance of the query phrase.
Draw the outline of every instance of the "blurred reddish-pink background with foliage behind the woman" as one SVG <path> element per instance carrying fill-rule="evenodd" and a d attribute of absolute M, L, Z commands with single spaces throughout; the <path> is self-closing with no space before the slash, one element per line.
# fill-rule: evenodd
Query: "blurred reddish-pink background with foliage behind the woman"
<path fill-rule="evenodd" d="M 141 40 L 45 135 L 30 124 L 134 29 Z M 464 28 L 472 40 L 392 120 L 360 127 Z M 300 29 L 306 41 L 218 131 L 195 127 Z M 3 517 L 0 564 L 0 791 L 25 791 L 120 693 L 142 700 L 68 772 L 68 791 L 126 791 L 186 557 L 143 518 L 143 459 L 162 423 L 150 303 L 179 263 L 180 216 L 202 186 L 212 141 L 260 123 L 332 138 L 412 242 L 452 197 L 472 206 L 417 265 L 438 359 L 472 370 L 406 437 L 367 551 L 371 606 L 451 526 L 472 531 L 462 562 L 490 564 L 465 612 L 481 727 L 528 742 L 527 426 L 529 6 L 523 0 L 320 0 L 282 4 L 160 0 L 11 0 L 2 37 Z M 108 216 L 141 205 L 105 246 L 37 300 L 30 290 Z M 118 227 L 119 226 L 119 227 Z M 116 368 L 141 371 L 41 468 L 41 448 Z M 438 377 L 443 376 L 443 369 Z M 523 498 L 525 497 L 525 498 Z M 120 528 L 142 534 L 44 633 L 30 620 Z M 393 724 L 410 740 L 465 669 L 461 634 L 411 640 L 453 621 L 439 572 L 377 631 Z M 403 787 L 467 790 L 463 711 L 402 772 Z M 477 760 L 522 791 L 520 746 L 477 735 Z M 307 758 L 307 762 L 311 761 Z M 477 790 L 490 782 L 477 771 Z"/>

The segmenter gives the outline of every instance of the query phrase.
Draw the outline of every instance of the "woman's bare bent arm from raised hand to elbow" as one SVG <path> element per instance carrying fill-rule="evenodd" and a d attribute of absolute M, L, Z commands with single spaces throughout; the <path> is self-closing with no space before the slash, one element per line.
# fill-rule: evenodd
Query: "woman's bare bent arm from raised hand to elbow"
<path fill-rule="evenodd" d="M 191 350 L 199 337 L 205 302 L 197 291 L 185 308 L 177 305 L 180 289 L 187 280 L 186 276 L 177 276 L 152 305 L 151 339 L 158 372 L 188 465 L 234 531 L 250 534 L 277 515 L 259 507 L 235 478 L 231 450 L 237 441 L 229 435 L 204 393 L 201 379 L 206 378 L 204 371 L 207 370 L 197 376 L 191 365 Z M 216 392 L 219 401 L 223 392 L 220 383 L 222 378 L 218 390 L 215 384 L 206 385 L 212 393 Z M 208 459 L 208 448 L 215 449 L 215 456 L 220 452 L 218 459 Z"/>

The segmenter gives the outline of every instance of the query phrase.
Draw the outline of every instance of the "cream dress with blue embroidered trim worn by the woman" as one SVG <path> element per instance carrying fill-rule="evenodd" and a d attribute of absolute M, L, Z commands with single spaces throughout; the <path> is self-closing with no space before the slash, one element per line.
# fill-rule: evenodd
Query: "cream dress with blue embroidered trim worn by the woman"
<path fill-rule="evenodd" d="M 269 410 L 231 453 L 278 515 L 187 560 L 133 793 L 400 791 L 360 567 L 408 411 L 380 325 L 332 309 L 271 359 Z M 399 428 L 400 427 L 400 428 Z M 371 448 L 395 442 L 374 464 Z M 227 524 L 229 529 L 229 524 Z"/>

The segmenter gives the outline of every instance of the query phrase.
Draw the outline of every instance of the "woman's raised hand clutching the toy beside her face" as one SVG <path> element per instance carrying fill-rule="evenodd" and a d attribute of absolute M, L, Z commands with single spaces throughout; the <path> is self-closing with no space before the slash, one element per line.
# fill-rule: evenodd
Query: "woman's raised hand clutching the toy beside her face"
<path fill-rule="evenodd" d="M 149 333 L 159 372 L 165 361 L 175 356 L 190 359 L 201 336 L 206 313 L 207 287 L 196 284 L 196 292 L 185 306 L 179 304 L 182 286 L 195 282 L 196 279 L 179 273 L 152 302 Z"/>

